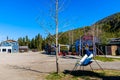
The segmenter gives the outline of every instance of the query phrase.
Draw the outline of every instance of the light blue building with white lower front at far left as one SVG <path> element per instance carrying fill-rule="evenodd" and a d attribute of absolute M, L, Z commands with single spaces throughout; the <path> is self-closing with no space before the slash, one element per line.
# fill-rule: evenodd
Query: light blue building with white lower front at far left
<path fill-rule="evenodd" d="M 14 40 L 6 40 L 0 44 L 0 53 L 17 53 L 19 52 L 19 44 Z"/>

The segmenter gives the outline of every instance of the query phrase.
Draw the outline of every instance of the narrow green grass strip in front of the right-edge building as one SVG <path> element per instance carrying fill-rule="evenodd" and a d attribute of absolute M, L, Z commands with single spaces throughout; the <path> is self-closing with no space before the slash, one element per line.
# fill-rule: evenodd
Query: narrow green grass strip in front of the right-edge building
<path fill-rule="evenodd" d="M 102 57 L 102 56 L 95 56 L 94 59 L 100 60 L 103 62 L 120 61 L 120 58 L 108 58 L 108 57 Z"/>

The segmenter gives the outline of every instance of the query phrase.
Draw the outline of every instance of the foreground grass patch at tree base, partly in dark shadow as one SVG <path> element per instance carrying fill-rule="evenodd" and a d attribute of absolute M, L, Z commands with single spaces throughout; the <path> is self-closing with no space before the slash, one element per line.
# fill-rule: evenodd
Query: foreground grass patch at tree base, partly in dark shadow
<path fill-rule="evenodd" d="M 63 73 L 50 73 L 46 80 L 120 80 L 120 71 L 101 70 L 93 71 L 65 71 Z"/>

